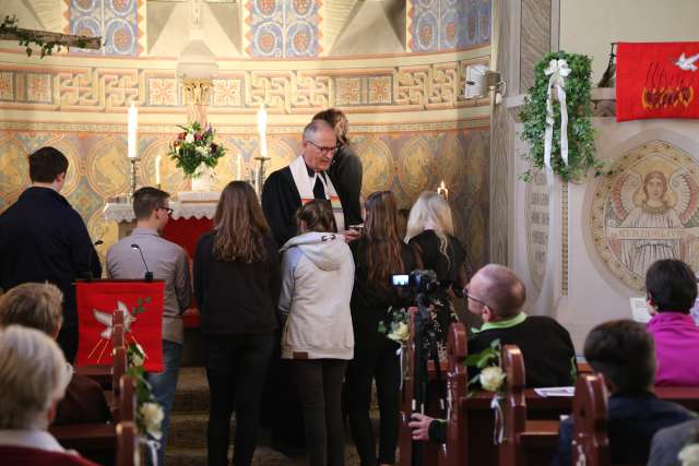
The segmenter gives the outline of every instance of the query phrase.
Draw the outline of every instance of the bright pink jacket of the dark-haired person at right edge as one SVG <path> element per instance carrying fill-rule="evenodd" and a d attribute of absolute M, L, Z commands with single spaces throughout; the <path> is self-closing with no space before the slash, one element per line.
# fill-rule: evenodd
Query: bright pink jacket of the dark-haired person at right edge
<path fill-rule="evenodd" d="M 655 340 L 655 385 L 699 386 L 699 327 L 691 316 L 659 312 L 645 328 Z"/>

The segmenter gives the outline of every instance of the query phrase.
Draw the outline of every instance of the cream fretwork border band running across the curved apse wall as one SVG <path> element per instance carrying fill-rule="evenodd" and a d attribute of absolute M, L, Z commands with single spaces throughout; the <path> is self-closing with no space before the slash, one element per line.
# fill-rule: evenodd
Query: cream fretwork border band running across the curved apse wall
<path fill-rule="evenodd" d="M 487 99 L 464 98 L 465 69 L 474 62 L 487 58 L 363 70 L 222 72 L 210 104 L 213 112 L 217 107 L 249 112 L 264 103 L 287 115 L 331 106 L 379 111 L 487 106 Z M 182 106 L 180 87 L 164 70 L 0 64 L 0 108 L 110 112 L 133 101 L 165 110 Z"/>

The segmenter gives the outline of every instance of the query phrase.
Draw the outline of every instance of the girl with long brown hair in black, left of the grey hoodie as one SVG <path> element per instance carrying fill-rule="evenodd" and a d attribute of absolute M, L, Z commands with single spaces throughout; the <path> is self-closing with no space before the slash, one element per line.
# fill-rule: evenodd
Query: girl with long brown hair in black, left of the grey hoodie
<path fill-rule="evenodd" d="M 233 464 L 249 465 L 277 328 L 280 258 L 249 183 L 232 181 L 226 186 L 214 224 L 215 228 L 199 239 L 194 259 L 194 295 L 201 311 L 211 401 L 209 465 L 228 464 L 234 409 Z"/>

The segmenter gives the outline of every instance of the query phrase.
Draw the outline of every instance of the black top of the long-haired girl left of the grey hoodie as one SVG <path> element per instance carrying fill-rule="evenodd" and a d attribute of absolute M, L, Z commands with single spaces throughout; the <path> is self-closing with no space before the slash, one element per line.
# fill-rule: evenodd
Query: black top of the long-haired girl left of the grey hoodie
<path fill-rule="evenodd" d="M 204 334 L 273 332 L 282 284 L 280 255 L 264 238 L 266 260 L 246 264 L 213 256 L 216 231 L 202 235 L 194 255 L 194 295 Z"/>

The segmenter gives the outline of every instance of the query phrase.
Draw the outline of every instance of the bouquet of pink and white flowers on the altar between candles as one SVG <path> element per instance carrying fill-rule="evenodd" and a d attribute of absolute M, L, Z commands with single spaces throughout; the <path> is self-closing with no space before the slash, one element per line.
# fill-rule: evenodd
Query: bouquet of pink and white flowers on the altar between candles
<path fill-rule="evenodd" d="M 226 150 L 214 143 L 215 131 L 211 124 L 202 130 L 197 121 L 180 126 L 182 131 L 170 145 L 168 156 L 181 168 L 186 177 L 198 178 L 204 167 L 214 168 Z"/>

